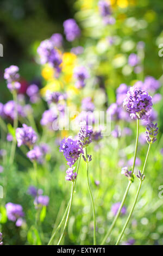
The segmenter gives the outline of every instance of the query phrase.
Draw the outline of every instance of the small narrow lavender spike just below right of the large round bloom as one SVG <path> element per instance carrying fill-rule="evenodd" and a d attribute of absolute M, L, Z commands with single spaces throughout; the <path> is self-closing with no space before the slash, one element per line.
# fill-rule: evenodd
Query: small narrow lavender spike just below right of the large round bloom
<path fill-rule="evenodd" d="M 150 124 L 147 124 L 146 126 L 146 139 L 147 139 L 147 142 L 148 144 L 152 144 L 156 141 L 156 136 L 158 135 L 158 124 L 155 123 L 150 123 Z"/>

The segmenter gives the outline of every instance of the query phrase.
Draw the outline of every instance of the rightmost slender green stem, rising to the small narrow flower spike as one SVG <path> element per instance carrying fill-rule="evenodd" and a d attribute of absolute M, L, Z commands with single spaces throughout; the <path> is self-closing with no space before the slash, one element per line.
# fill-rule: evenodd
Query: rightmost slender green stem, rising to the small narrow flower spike
<path fill-rule="evenodd" d="M 147 164 L 147 160 L 148 160 L 148 155 L 149 155 L 149 150 L 150 150 L 150 148 L 151 148 L 151 144 L 149 144 L 149 146 L 148 146 L 148 151 L 147 151 L 146 160 L 145 160 L 145 163 L 144 163 L 144 166 L 143 166 L 142 174 L 144 174 L 144 172 L 145 172 L 145 168 L 146 168 L 146 164 Z M 118 245 L 118 243 L 121 241 L 121 238 L 122 238 L 122 236 L 123 236 L 123 234 L 124 234 L 124 231 L 125 231 L 125 229 L 126 229 L 128 223 L 129 223 L 129 220 L 130 220 L 130 218 L 131 218 L 131 215 L 133 214 L 133 211 L 134 211 L 134 208 L 135 208 L 135 205 L 136 205 L 136 202 L 137 202 L 137 198 L 138 198 L 138 196 L 139 196 L 139 192 L 140 192 L 141 185 L 142 185 L 142 180 L 140 180 L 140 184 L 139 184 L 139 188 L 138 188 L 138 190 L 137 190 L 136 196 L 135 196 L 134 204 L 133 204 L 133 206 L 132 206 L 132 208 L 131 208 L 131 210 L 130 210 L 129 216 L 128 216 L 128 218 L 127 218 L 126 223 L 124 224 L 124 227 L 123 227 L 123 229 L 122 229 L 122 231 L 121 231 L 121 234 L 120 234 L 120 236 L 118 237 L 118 240 L 117 240 L 117 242 L 116 242 L 116 245 Z"/>

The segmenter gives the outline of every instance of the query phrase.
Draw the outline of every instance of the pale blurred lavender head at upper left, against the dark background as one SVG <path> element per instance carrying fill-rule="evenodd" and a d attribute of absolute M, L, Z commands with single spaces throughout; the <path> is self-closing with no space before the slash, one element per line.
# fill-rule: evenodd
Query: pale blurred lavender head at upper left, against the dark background
<path fill-rule="evenodd" d="M 7 87 L 10 92 L 21 88 L 21 84 L 18 82 L 18 79 L 20 78 L 18 70 L 18 66 L 15 65 L 11 65 L 4 70 L 4 79 L 7 80 Z"/>

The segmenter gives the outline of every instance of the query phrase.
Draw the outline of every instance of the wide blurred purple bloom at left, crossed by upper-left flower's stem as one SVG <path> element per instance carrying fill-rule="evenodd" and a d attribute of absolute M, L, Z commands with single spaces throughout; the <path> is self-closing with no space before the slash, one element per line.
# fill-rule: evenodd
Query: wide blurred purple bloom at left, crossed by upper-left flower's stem
<path fill-rule="evenodd" d="M 21 117 L 25 117 L 26 114 L 23 111 L 23 107 L 19 104 L 16 105 L 15 101 L 10 100 L 7 103 L 5 103 L 3 107 L 4 114 L 7 115 L 7 117 L 10 117 L 11 119 L 15 118 L 15 111 L 14 109 L 17 109 L 18 115 Z"/>

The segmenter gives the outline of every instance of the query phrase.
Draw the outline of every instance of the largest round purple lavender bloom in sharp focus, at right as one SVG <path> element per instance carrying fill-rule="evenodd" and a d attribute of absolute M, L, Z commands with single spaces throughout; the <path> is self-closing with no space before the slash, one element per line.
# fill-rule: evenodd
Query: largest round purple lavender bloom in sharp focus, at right
<path fill-rule="evenodd" d="M 146 119 L 146 113 L 152 109 L 152 97 L 145 90 L 130 87 L 123 101 L 131 118 Z"/>

